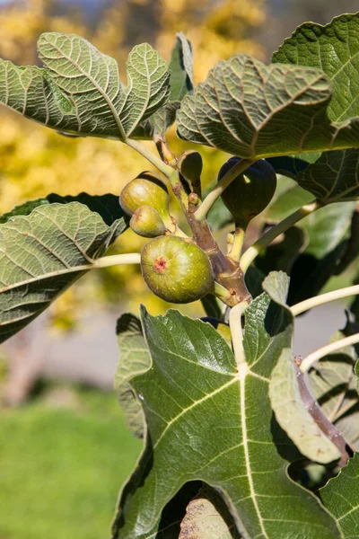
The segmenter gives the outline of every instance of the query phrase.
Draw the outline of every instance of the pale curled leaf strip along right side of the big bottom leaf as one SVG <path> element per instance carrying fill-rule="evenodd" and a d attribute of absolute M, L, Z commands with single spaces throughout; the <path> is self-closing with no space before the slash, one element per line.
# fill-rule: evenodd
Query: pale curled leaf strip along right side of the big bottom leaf
<path fill-rule="evenodd" d="M 269 398 L 276 420 L 302 455 L 328 464 L 340 457 L 337 447 L 324 435 L 302 402 L 291 349 L 284 349 L 269 382 Z"/>

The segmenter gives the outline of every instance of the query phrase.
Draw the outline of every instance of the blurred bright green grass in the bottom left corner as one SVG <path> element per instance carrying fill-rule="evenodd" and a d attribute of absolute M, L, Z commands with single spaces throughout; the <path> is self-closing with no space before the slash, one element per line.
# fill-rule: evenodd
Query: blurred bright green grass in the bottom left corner
<path fill-rule="evenodd" d="M 69 391 L 0 411 L 0 539 L 109 538 L 141 442 L 114 394 Z"/>

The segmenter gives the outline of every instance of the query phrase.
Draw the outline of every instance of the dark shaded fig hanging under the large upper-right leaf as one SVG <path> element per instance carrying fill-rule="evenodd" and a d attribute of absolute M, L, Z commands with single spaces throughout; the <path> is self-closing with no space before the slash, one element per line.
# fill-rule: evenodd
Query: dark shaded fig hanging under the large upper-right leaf
<path fill-rule="evenodd" d="M 223 164 L 218 180 L 241 161 L 231 157 Z M 230 210 L 236 227 L 245 230 L 253 217 L 258 216 L 273 198 L 276 191 L 276 172 L 264 159 L 251 164 L 223 191 L 224 205 Z"/>

